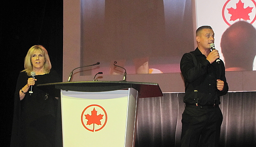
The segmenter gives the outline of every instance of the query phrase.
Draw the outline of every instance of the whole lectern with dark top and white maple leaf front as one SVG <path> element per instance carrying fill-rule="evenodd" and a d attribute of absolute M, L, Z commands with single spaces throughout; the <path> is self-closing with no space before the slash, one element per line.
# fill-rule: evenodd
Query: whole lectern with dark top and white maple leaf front
<path fill-rule="evenodd" d="M 58 82 L 64 147 L 134 147 L 139 98 L 163 96 L 157 83 Z"/>

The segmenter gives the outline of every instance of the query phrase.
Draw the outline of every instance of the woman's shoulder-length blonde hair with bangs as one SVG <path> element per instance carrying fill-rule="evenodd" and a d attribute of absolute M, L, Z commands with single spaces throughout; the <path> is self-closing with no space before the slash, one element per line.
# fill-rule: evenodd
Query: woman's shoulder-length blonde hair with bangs
<path fill-rule="evenodd" d="M 34 54 L 35 51 L 40 51 L 44 55 L 44 58 L 45 58 L 44 71 L 46 73 L 49 73 L 50 69 L 52 68 L 52 65 L 51 65 L 51 62 L 50 62 L 48 52 L 44 48 L 44 46 L 42 46 L 42 45 L 34 45 L 31 48 L 29 48 L 29 51 L 26 54 L 26 57 L 24 59 L 24 68 L 25 69 L 23 71 L 26 71 L 28 76 L 31 75 L 31 72 L 33 71 L 33 65 L 32 65 L 32 62 L 31 62 L 31 58 L 32 58 L 32 54 Z M 23 71 L 21 71 L 21 72 L 23 72 Z"/>

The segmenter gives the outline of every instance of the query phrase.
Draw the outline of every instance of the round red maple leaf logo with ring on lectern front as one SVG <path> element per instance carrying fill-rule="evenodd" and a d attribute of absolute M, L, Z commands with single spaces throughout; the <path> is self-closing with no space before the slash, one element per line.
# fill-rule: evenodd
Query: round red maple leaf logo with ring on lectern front
<path fill-rule="evenodd" d="M 104 114 L 99 113 L 99 115 L 98 115 L 97 114 L 98 111 L 95 109 L 95 107 L 97 108 L 97 110 L 100 110 L 101 113 L 104 113 Z M 91 110 L 92 108 L 93 108 L 93 110 Z M 87 122 L 85 119 L 87 119 Z M 102 120 L 102 119 L 104 119 L 104 120 Z M 83 110 L 83 112 L 81 114 L 81 122 L 82 122 L 83 126 L 87 130 L 92 131 L 92 132 L 101 130 L 107 123 L 107 119 L 108 119 L 107 113 L 106 113 L 105 109 L 100 105 L 89 105 Z M 101 120 L 102 120 L 102 122 L 104 122 L 103 125 L 102 125 Z M 86 124 L 85 124 L 85 122 L 86 122 Z M 93 128 L 89 127 L 89 126 L 91 126 L 91 124 L 93 124 L 92 125 Z M 98 128 L 95 127 L 95 124 L 97 125 Z"/>

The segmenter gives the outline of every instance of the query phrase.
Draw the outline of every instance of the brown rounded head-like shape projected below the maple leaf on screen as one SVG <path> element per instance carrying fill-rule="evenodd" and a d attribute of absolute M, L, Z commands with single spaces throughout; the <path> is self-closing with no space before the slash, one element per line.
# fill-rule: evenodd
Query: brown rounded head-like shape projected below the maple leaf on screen
<path fill-rule="evenodd" d="M 251 71 L 256 55 L 256 29 L 245 21 L 233 23 L 222 34 L 221 51 L 226 71 Z"/>

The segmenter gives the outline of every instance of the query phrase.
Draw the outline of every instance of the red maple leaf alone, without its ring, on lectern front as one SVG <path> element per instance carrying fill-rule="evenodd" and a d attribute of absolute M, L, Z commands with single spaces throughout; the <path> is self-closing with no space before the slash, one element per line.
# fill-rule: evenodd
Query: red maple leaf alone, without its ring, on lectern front
<path fill-rule="evenodd" d="M 91 111 L 92 115 L 89 115 L 89 114 L 84 115 L 85 119 L 88 120 L 87 125 L 93 124 L 93 132 L 94 132 L 94 124 L 101 125 L 100 120 L 103 119 L 103 116 L 104 116 L 102 114 L 97 115 L 97 112 L 98 111 L 96 111 L 94 107 L 93 110 Z"/>

